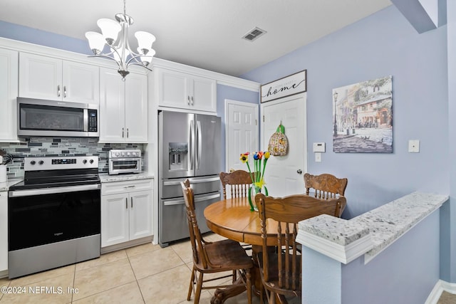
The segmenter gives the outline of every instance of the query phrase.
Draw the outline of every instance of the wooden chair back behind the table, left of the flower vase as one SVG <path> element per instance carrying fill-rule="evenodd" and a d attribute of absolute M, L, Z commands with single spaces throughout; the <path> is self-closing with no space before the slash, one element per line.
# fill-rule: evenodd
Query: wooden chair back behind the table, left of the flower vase
<path fill-rule="evenodd" d="M 227 199 L 228 186 L 231 197 L 247 197 L 249 195 L 249 188 L 252 186 L 252 177 L 249 172 L 244 170 L 235 170 L 229 173 L 220 172 L 219 177 L 220 182 L 222 182 L 224 199 Z"/>

